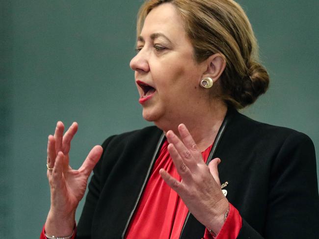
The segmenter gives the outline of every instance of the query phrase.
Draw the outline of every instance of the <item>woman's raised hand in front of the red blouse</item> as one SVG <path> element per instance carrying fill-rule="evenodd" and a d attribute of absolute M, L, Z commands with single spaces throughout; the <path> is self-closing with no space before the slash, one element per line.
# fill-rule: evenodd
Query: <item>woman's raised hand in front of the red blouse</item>
<path fill-rule="evenodd" d="M 166 137 L 167 149 L 182 181 L 164 169 L 160 169 L 160 175 L 180 195 L 189 212 L 217 235 L 229 210 L 228 200 L 220 188 L 217 169 L 220 159 L 213 159 L 207 166 L 186 126 L 181 124 L 178 130 L 183 141 L 173 131 L 168 131 Z"/>

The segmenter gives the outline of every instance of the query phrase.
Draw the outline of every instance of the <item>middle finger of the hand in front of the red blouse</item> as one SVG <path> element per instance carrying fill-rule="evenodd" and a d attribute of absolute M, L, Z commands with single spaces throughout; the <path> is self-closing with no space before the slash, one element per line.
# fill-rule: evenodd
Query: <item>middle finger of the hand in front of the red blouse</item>
<path fill-rule="evenodd" d="M 186 148 L 184 143 L 177 137 L 177 135 L 173 131 L 168 131 L 166 133 L 167 140 L 174 145 L 180 157 L 183 159 L 186 166 L 189 168 L 191 172 L 196 171 L 197 162 L 194 159 L 191 152 Z"/>

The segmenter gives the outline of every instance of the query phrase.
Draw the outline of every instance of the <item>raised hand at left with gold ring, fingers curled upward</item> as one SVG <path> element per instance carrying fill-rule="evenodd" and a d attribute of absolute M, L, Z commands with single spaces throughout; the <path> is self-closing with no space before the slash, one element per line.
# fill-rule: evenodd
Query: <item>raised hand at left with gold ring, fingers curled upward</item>
<path fill-rule="evenodd" d="M 69 236 L 75 226 L 75 212 L 84 196 L 87 179 L 101 158 L 103 149 L 97 145 L 87 155 L 78 170 L 69 165 L 71 140 L 77 133 L 73 123 L 63 135 L 64 125 L 57 122 L 54 135 L 48 139 L 47 176 L 51 190 L 51 207 L 45 231 L 49 236 Z"/>

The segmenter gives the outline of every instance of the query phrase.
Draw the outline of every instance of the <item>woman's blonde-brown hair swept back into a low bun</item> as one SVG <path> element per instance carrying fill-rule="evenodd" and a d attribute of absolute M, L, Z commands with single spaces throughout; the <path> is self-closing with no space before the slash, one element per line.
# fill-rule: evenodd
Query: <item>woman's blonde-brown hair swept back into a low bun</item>
<path fill-rule="evenodd" d="M 250 22 L 233 0 L 147 0 L 137 17 L 137 35 L 147 14 L 162 3 L 171 3 L 184 21 L 194 48 L 194 57 L 202 62 L 221 53 L 226 67 L 220 79 L 219 97 L 228 105 L 242 108 L 266 92 L 269 76 L 258 63 L 257 41 Z"/>

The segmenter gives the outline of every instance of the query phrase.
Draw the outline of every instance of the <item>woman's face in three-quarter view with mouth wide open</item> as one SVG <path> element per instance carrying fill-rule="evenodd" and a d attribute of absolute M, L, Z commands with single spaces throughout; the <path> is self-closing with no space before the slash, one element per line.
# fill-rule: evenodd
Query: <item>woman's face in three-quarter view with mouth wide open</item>
<path fill-rule="evenodd" d="M 195 62 L 182 19 L 172 4 L 161 4 L 147 15 L 137 49 L 130 66 L 144 119 L 160 127 L 194 116 L 203 98 L 199 81 L 207 65 Z"/>

